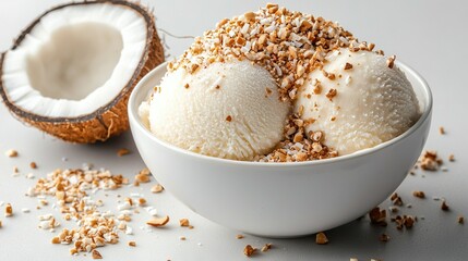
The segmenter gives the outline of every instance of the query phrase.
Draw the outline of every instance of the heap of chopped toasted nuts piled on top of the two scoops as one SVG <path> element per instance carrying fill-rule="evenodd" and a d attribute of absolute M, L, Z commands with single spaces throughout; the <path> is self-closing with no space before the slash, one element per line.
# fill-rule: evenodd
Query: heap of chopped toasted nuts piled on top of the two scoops
<path fill-rule="evenodd" d="M 300 86 L 297 80 L 320 67 L 327 52 L 355 42 L 357 39 L 335 23 L 268 4 L 257 12 L 220 21 L 168 69 L 183 67 L 192 73 L 218 61 L 214 57 L 221 61 L 249 59 L 269 71 L 277 83 L 285 83 L 279 91 L 286 100 L 290 90 Z"/>

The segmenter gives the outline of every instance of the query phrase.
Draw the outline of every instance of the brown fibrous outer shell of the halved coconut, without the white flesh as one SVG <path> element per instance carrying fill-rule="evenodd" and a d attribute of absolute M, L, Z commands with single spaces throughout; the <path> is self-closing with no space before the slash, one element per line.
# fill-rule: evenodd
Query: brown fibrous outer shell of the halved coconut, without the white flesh
<path fill-rule="evenodd" d="M 34 26 L 48 13 L 71 7 L 83 4 L 109 3 L 123 5 L 139 12 L 146 21 L 147 39 L 144 54 L 140 60 L 137 67 L 132 78 L 122 86 L 119 95 L 110 100 L 107 104 L 91 114 L 81 115 L 77 117 L 47 117 L 37 115 L 31 111 L 24 111 L 16 107 L 10 99 L 9 94 L 3 87 L 3 80 L 0 78 L 0 95 L 4 104 L 10 112 L 34 127 L 37 127 L 52 136 L 71 142 L 92 144 L 96 141 L 105 141 L 108 138 L 119 135 L 129 129 L 129 116 L 127 113 L 127 104 L 132 89 L 149 71 L 164 62 L 164 48 L 160 44 L 159 36 L 156 30 L 154 15 L 140 3 L 129 2 L 124 0 L 97 0 L 85 2 L 73 2 L 56 7 L 34 21 L 14 41 L 12 50 L 21 46 L 25 36 L 34 28 Z M 3 75 L 3 61 L 5 53 L 1 54 L 0 59 L 0 76 Z"/>

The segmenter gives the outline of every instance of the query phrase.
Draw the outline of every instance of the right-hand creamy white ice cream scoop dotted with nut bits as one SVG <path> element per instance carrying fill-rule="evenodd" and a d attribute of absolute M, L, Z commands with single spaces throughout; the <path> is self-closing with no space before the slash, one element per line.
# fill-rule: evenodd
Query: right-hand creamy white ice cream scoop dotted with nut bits
<path fill-rule="evenodd" d="M 396 65 L 370 51 L 333 51 L 310 73 L 295 111 L 323 130 L 339 154 L 374 147 L 406 132 L 419 119 L 418 99 Z"/>

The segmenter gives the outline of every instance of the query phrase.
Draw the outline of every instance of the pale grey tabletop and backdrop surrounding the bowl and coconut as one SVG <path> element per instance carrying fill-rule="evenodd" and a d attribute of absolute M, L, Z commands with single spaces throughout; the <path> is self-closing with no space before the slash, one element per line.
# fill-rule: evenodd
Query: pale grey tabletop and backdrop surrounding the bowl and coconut
<path fill-rule="evenodd" d="M 0 1 L 0 50 L 10 47 L 15 38 L 34 17 L 49 7 L 62 1 L 57 0 L 15 0 Z M 175 35 L 200 35 L 212 28 L 223 17 L 238 15 L 248 10 L 255 10 L 264 1 L 143 1 L 154 7 L 157 26 Z M 236 3 L 235 3 L 236 2 Z M 359 39 L 373 41 L 387 54 L 395 53 L 419 71 L 429 82 L 434 95 L 434 113 L 428 149 L 435 149 L 446 159 L 454 153 L 456 162 L 447 163 L 447 172 L 422 173 L 408 176 L 397 189 L 411 209 L 405 213 L 424 216 L 411 231 L 399 232 L 394 224 L 388 227 L 375 227 L 368 220 L 355 221 L 328 231 L 331 243 L 319 246 L 314 237 L 298 239 L 268 239 L 247 235 L 242 240 L 235 236 L 239 233 L 216 225 L 178 202 L 169 192 L 152 195 L 151 185 L 125 187 L 96 195 L 106 201 L 104 209 L 116 211 L 117 195 L 130 192 L 144 194 L 149 203 L 160 213 L 167 213 L 172 221 L 165 229 L 147 233 L 139 227 L 149 219 L 142 211 L 134 215 L 131 223 L 135 235 L 121 234 L 118 245 L 100 248 L 106 260 L 245 260 L 242 249 L 247 244 L 261 247 L 273 243 L 269 252 L 256 254 L 254 260 L 467 260 L 468 224 L 456 223 L 458 214 L 468 217 L 467 185 L 468 154 L 464 151 L 468 145 L 468 109 L 465 101 L 468 86 L 463 80 L 467 75 L 468 52 L 468 4 L 464 1 L 278 1 L 291 10 L 312 13 L 328 20 L 339 21 Z M 161 34 L 164 35 L 164 34 Z M 166 36 L 172 55 L 180 54 L 190 45 L 190 40 Z M 447 134 L 439 134 L 439 126 L 444 126 Z M 129 148 L 133 153 L 118 158 L 119 148 Z M 16 149 L 20 157 L 9 159 L 3 151 Z M 0 219 L 0 260 L 89 260 L 91 257 L 71 258 L 69 247 L 51 245 L 52 233 L 37 228 L 37 215 L 53 213 L 50 207 L 36 210 L 37 199 L 25 197 L 26 189 L 37 177 L 62 167 L 81 167 L 91 162 L 97 167 L 106 167 L 113 173 L 128 177 L 144 167 L 135 149 L 130 133 L 97 145 L 71 145 L 57 140 L 39 130 L 25 126 L 0 107 L 0 201 L 11 202 L 15 210 L 13 217 Z M 67 157 L 69 161 L 61 161 Z M 35 161 L 38 169 L 32 171 L 28 163 Z M 388 162 L 398 164 L 398 162 Z M 21 176 L 13 177 L 12 169 L 17 165 Z M 33 172 L 36 179 L 25 178 Z M 424 190 L 428 198 L 418 200 L 411 196 L 413 190 Z M 445 197 L 451 206 L 449 212 L 440 210 L 440 201 L 432 197 Z M 344 199 L 346 200 L 346 199 Z M 388 202 L 383 203 L 384 207 Z M 22 213 L 22 208 L 29 208 L 31 213 Z M 278 211 L 281 211 L 278 209 Z M 242 213 L 239 213 L 242 214 Z M 293 214 L 293 213 L 291 213 Z M 182 229 L 177 221 L 190 219 L 194 229 Z M 61 227 L 74 224 L 62 222 Z M 384 244 L 377 240 L 381 233 L 387 233 L 392 239 Z M 179 240 L 185 236 L 187 240 Z M 128 240 L 135 240 L 136 248 L 127 246 Z"/>

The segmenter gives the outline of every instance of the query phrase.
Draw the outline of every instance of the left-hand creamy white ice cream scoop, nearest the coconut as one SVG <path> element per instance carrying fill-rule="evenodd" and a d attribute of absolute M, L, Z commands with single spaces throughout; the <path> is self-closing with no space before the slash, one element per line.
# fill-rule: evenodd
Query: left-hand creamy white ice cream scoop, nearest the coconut
<path fill-rule="evenodd" d="M 236 60 L 167 73 L 140 115 L 154 135 L 180 148 L 252 160 L 281 140 L 289 111 L 268 71 Z"/>

